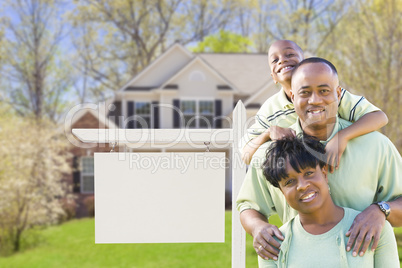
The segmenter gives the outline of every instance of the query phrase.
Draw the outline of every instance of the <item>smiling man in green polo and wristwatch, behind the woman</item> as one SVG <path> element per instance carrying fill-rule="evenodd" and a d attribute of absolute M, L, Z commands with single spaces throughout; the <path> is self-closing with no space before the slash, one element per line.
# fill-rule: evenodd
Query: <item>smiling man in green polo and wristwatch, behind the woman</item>
<path fill-rule="evenodd" d="M 292 101 L 299 118 L 291 128 L 296 134 L 304 132 L 328 143 L 351 124 L 337 117 L 341 88 L 335 67 L 324 59 L 309 58 L 292 75 Z M 266 148 L 261 146 L 251 161 L 237 208 L 257 253 L 276 260 L 280 244 L 273 236 L 281 240 L 283 236 L 267 219 L 278 214 L 285 223 L 297 213 L 264 178 L 261 164 Z M 402 159 L 389 139 L 372 132 L 350 140 L 340 161 L 339 169 L 328 174 L 332 198 L 338 206 L 363 211 L 355 218 L 346 245 L 354 256 L 363 255 L 371 240 L 371 249 L 376 248 L 385 220 L 402 226 Z"/>

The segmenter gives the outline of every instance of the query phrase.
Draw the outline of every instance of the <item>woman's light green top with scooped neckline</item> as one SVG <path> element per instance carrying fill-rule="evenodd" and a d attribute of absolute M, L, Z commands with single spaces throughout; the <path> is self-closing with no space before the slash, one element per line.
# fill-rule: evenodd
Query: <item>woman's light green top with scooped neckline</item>
<path fill-rule="evenodd" d="M 371 245 L 363 257 L 353 257 L 352 251 L 346 251 L 349 238 L 345 234 L 360 212 L 350 208 L 344 208 L 344 210 L 343 219 L 334 228 L 320 235 L 312 235 L 306 232 L 300 223 L 299 216 L 290 220 L 279 228 L 285 240 L 282 242 L 278 261 L 267 261 L 258 257 L 259 267 L 399 268 L 398 248 L 389 222 L 385 222 L 375 252 L 370 250 Z"/>

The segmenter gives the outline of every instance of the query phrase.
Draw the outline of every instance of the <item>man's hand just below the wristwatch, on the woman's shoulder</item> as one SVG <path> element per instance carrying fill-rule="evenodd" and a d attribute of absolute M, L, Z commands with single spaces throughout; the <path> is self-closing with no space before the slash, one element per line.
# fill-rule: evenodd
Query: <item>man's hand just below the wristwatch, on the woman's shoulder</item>
<path fill-rule="evenodd" d="M 360 248 L 359 255 L 363 256 L 371 240 L 373 240 L 371 250 L 374 251 L 380 241 L 380 235 L 384 224 L 385 214 L 380 210 L 378 205 L 370 205 L 356 216 L 352 226 L 346 233 L 346 236 L 349 237 L 346 250 L 350 251 L 354 243 L 353 256 L 357 256 Z"/>

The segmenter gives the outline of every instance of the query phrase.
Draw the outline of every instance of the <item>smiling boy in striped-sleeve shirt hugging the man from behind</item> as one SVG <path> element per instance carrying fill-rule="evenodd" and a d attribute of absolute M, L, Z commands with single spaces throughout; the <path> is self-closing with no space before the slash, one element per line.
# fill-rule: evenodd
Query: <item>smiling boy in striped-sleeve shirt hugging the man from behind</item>
<path fill-rule="evenodd" d="M 268 63 L 274 82 L 282 89 L 261 106 L 255 116 L 255 123 L 243 137 L 242 159 L 250 164 L 255 151 L 269 140 L 294 136 L 289 129 L 296 122 L 297 115 L 290 98 L 291 76 L 295 65 L 303 60 L 302 49 L 293 41 L 278 40 L 268 51 Z M 327 163 L 330 172 L 338 168 L 340 158 L 349 140 L 380 129 L 388 123 L 384 112 L 364 97 L 356 96 L 342 89 L 339 116 L 350 122 L 350 127 L 339 131 L 326 146 Z"/>

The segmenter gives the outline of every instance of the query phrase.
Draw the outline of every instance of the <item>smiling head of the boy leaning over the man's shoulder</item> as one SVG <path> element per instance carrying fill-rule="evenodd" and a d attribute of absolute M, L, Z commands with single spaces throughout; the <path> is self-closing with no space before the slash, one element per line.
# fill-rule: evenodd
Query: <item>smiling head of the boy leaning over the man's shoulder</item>
<path fill-rule="evenodd" d="M 268 63 L 274 82 L 290 82 L 293 68 L 302 60 L 302 51 L 294 42 L 279 40 L 273 43 L 268 51 Z"/>

